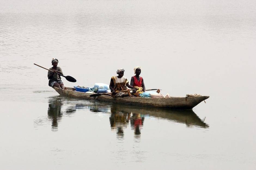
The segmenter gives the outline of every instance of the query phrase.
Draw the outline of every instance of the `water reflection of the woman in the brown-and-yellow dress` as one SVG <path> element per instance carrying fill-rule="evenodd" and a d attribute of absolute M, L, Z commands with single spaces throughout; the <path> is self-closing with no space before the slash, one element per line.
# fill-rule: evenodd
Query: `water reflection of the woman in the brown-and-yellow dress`
<path fill-rule="evenodd" d="M 130 119 L 130 113 L 122 113 L 111 106 L 111 116 L 109 117 L 111 130 L 117 130 L 117 137 L 124 137 L 124 128 L 127 127 Z"/>

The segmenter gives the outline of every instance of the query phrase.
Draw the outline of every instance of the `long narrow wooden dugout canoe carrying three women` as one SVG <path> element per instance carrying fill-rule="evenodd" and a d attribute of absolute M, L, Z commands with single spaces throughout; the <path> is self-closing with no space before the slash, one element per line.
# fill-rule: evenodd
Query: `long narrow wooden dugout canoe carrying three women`
<path fill-rule="evenodd" d="M 135 106 L 148 106 L 156 108 L 172 108 L 172 109 L 192 109 L 209 96 L 196 97 L 170 97 L 170 98 L 144 98 L 144 97 L 111 97 L 98 96 L 90 97 L 92 93 L 77 92 L 75 88 L 66 87 L 66 90 L 53 87 L 61 96 L 72 97 L 77 99 L 98 100 L 107 103 L 119 103 Z"/>

